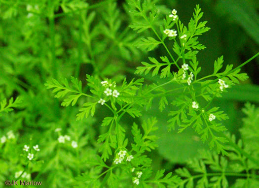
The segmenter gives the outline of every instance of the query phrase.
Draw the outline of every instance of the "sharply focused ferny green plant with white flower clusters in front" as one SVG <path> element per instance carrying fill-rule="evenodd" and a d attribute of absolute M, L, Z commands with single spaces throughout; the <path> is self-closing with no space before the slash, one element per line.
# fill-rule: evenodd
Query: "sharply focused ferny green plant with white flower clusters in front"
<path fill-rule="evenodd" d="M 76 120 L 80 121 L 94 116 L 96 108 L 108 108 L 112 116 L 105 117 L 102 126 L 107 126 L 107 131 L 99 135 L 98 152 L 92 161 L 86 161 L 95 167 L 103 169 L 99 174 L 91 176 L 84 173 L 78 180 L 85 182 L 87 186 L 94 187 L 173 187 L 192 188 L 197 185 L 203 187 L 228 187 L 226 176 L 240 176 L 239 180 L 246 183 L 246 178 L 258 178 L 252 175 L 251 169 L 258 169 L 258 158 L 244 148 L 242 142 L 236 144 L 235 137 L 227 135 L 227 128 L 222 124 L 228 117 L 217 106 L 211 106 L 215 97 L 221 97 L 228 88 L 248 78 L 246 73 L 240 73 L 240 68 L 250 62 L 256 56 L 234 68 L 226 65 L 222 70 L 223 57 L 214 63 L 214 72 L 204 77 L 199 77 L 202 67 L 196 55 L 205 46 L 198 41 L 198 36 L 210 30 L 206 27 L 206 21 L 201 21 L 203 12 L 199 5 L 193 13 L 187 26 L 181 22 L 177 10 L 173 9 L 162 20 L 159 12 L 149 0 L 127 0 L 132 24 L 129 26 L 134 31 L 141 33 L 146 30 L 153 32 L 154 36 L 142 38 L 135 46 L 142 50 L 165 48 L 167 54 L 162 54 L 160 59 L 149 57 L 149 62 L 142 62 L 137 67 L 135 74 L 144 75 L 149 72 L 152 76 L 159 75 L 167 80 L 163 84 L 156 82 L 146 85 L 144 78 L 136 78 L 130 81 L 124 79 L 122 83 L 116 83 L 112 79 L 101 78 L 98 75 L 86 75 L 88 92 L 82 91 L 82 83 L 72 77 L 71 83 L 67 79 L 58 82 L 53 79 L 45 86 L 53 89 L 56 98 L 64 98 L 62 106 L 74 106 L 80 97 L 87 100 L 82 104 Z M 169 42 L 168 42 L 169 40 Z M 167 45 L 168 44 L 168 45 Z M 172 69 L 177 71 L 172 71 Z M 174 83 L 174 88 L 168 90 L 166 86 Z M 168 101 L 168 96 L 173 96 L 173 101 Z M 178 132 L 186 128 L 193 128 L 203 142 L 209 144 L 217 153 L 201 152 L 200 159 L 190 161 L 190 168 L 198 175 L 192 175 L 186 168 L 178 169 L 164 174 L 164 170 L 158 170 L 153 175 L 151 159 L 146 155 L 157 147 L 157 137 L 152 134 L 157 127 L 156 118 L 150 118 L 142 125 L 134 123 L 131 132 L 126 132 L 121 118 L 129 114 L 132 118 L 142 115 L 152 105 L 152 100 L 159 98 L 159 110 L 176 106 L 177 110 L 168 114 L 168 130 Z M 201 105 L 201 101 L 206 105 Z M 132 134 L 134 141 L 129 141 L 127 135 Z M 235 173 L 233 168 L 228 172 L 227 161 L 224 156 L 243 165 L 247 174 Z M 241 163 L 239 163 L 239 162 Z M 206 165 L 217 173 L 207 173 Z M 239 171 L 240 172 L 240 171 Z M 196 181 L 198 179 L 198 182 Z M 237 182 L 237 185 L 239 184 Z"/>

